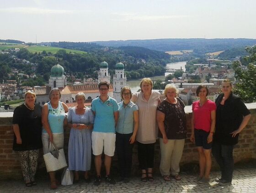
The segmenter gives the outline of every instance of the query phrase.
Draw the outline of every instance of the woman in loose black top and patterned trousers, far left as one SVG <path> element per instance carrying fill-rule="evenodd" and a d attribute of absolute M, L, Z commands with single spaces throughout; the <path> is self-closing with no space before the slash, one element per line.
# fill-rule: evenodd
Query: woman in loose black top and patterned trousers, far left
<path fill-rule="evenodd" d="M 42 148 L 42 107 L 35 104 L 36 94 L 27 91 L 25 103 L 17 107 L 13 113 L 13 150 L 17 151 L 21 160 L 21 170 L 27 187 L 36 185 L 35 174 L 39 149 Z"/>

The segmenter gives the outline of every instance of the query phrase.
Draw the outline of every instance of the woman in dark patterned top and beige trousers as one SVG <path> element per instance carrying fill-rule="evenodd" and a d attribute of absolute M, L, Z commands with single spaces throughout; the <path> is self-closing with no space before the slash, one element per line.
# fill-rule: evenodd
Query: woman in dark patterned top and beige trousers
<path fill-rule="evenodd" d="M 170 177 L 181 180 L 180 161 L 187 137 L 187 120 L 184 103 L 177 98 L 178 90 L 172 84 L 165 86 L 166 98 L 157 107 L 156 119 L 160 129 L 160 172 L 165 181 Z"/>

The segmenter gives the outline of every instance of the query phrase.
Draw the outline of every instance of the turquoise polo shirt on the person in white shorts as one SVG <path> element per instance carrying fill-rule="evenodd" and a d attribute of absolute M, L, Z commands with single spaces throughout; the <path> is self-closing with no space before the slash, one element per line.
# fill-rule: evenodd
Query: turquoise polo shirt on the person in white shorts
<path fill-rule="evenodd" d="M 95 112 L 93 131 L 94 132 L 115 132 L 114 112 L 118 111 L 117 101 L 108 96 L 104 103 L 100 97 L 91 102 L 91 110 Z"/>

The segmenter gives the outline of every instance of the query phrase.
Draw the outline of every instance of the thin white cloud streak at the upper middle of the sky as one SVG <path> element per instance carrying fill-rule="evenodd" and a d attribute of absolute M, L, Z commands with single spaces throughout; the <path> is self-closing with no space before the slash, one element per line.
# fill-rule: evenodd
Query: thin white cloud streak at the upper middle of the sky
<path fill-rule="evenodd" d="M 129 21 L 129 20 L 167 20 L 177 18 L 187 18 L 190 15 L 137 15 L 133 13 L 114 13 L 114 19 L 118 21 Z"/>

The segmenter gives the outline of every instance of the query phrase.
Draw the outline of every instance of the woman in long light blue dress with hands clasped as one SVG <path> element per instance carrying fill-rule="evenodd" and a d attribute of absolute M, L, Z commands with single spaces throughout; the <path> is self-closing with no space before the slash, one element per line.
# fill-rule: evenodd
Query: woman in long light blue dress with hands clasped
<path fill-rule="evenodd" d="M 76 107 L 68 112 L 69 136 L 69 170 L 75 171 L 74 182 L 79 181 L 78 171 L 84 171 L 84 178 L 89 182 L 88 171 L 91 169 L 91 131 L 94 115 L 91 108 L 85 107 L 85 94 L 75 96 Z"/>

